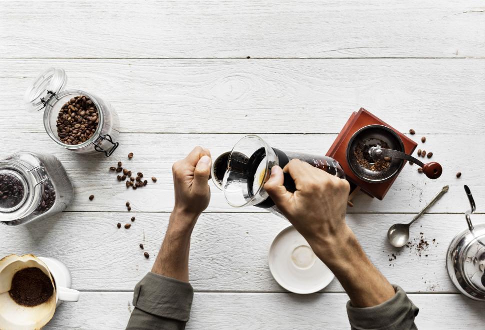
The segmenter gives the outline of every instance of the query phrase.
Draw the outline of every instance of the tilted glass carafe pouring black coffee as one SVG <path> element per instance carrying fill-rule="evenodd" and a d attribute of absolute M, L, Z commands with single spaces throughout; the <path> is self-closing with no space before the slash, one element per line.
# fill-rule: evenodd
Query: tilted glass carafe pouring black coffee
<path fill-rule="evenodd" d="M 275 165 L 283 168 L 291 159 L 299 159 L 331 175 L 345 178 L 338 162 L 330 157 L 310 155 L 300 152 L 282 151 L 270 147 L 257 135 L 247 135 L 240 139 L 225 155 L 226 170 L 222 180 L 214 178 L 214 182 L 221 182 L 227 203 L 232 207 L 256 206 L 282 216 L 274 202 L 264 190 L 264 183 Z M 224 158 L 223 158 L 224 159 Z M 218 164 L 219 165 L 218 165 Z M 224 162 L 216 160 L 215 166 L 224 166 Z M 212 170 L 212 176 L 221 172 Z M 294 181 L 288 173 L 284 173 L 284 183 L 288 191 L 295 191 Z"/>

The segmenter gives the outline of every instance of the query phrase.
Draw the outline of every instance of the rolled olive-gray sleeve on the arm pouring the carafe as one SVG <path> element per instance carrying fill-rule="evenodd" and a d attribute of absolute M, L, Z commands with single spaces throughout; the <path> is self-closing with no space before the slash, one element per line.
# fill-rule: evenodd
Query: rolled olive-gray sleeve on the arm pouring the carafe
<path fill-rule="evenodd" d="M 417 330 L 414 318 L 419 309 L 406 293 L 394 286 L 395 295 L 380 305 L 356 308 L 347 302 L 347 315 L 352 330 Z"/>

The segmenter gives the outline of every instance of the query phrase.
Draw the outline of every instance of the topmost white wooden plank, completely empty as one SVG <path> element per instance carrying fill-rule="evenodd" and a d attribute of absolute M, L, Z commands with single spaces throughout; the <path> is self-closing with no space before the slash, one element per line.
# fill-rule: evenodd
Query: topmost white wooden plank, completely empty
<path fill-rule="evenodd" d="M 1 7 L 1 57 L 485 56 L 479 0 L 2 1 Z"/>

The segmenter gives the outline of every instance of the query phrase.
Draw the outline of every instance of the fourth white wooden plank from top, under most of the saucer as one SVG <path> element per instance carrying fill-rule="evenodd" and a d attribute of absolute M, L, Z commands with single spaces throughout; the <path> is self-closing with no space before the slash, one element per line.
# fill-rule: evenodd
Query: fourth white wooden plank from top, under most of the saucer
<path fill-rule="evenodd" d="M 136 220 L 130 229 L 116 228 L 117 222 L 131 223 L 131 216 Z M 464 216 L 425 215 L 411 228 L 410 237 L 415 242 L 422 236 L 429 246 L 421 252 L 415 247 L 392 248 L 387 243 L 387 229 L 411 218 L 408 214 L 351 214 L 347 223 L 389 282 L 407 292 L 456 292 L 444 263 L 449 242 L 466 227 Z M 57 258 L 71 270 L 75 289 L 132 290 L 151 269 L 167 221 L 168 214 L 156 213 L 63 213 L 23 227 L 3 227 L 0 252 L 1 256 L 33 253 Z M 475 224 L 484 221 L 485 215 L 473 215 Z M 203 214 L 190 249 L 194 289 L 284 291 L 269 273 L 267 251 L 276 234 L 288 225 L 270 214 Z M 150 254 L 149 260 L 143 257 L 140 243 Z M 336 280 L 325 291 L 343 292 Z"/>

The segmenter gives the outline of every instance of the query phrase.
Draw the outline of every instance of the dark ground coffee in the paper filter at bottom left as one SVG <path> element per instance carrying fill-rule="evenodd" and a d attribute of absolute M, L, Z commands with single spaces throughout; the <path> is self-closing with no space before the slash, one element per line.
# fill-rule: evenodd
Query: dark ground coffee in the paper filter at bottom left
<path fill-rule="evenodd" d="M 33 307 L 45 303 L 54 292 L 49 277 L 39 268 L 24 268 L 13 275 L 10 297 L 21 306 Z"/>

